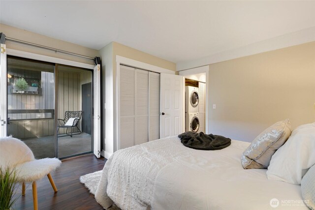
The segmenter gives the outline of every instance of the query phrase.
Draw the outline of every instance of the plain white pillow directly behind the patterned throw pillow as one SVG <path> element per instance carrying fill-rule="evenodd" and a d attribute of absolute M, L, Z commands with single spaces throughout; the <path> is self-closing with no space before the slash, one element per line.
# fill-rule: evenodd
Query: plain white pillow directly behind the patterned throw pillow
<path fill-rule="evenodd" d="M 315 164 L 315 122 L 294 129 L 286 143 L 271 157 L 269 180 L 301 184 L 302 177 Z"/>

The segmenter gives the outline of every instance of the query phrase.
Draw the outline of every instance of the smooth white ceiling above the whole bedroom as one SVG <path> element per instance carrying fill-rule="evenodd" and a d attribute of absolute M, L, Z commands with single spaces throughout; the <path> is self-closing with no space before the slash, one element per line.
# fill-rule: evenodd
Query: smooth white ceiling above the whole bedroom
<path fill-rule="evenodd" d="M 315 1 L 1 0 L 0 22 L 97 50 L 116 41 L 182 62 L 315 27 Z"/>

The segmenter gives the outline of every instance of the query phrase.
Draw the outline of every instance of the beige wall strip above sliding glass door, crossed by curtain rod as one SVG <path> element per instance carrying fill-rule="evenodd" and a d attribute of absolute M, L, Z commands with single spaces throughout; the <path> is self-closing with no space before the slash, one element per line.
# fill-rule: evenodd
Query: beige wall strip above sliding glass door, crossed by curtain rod
<path fill-rule="evenodd" d="M 0 32 L 4 33 L 7 37 L 10 37 L 10 38 L 20 39 L 20 40 L 32 42 L 35 44 L 44 45 L 47 47 L 65 50 L 71 53 L 77 53 L 77 54 L 89 56 L 92 58 L 94 58 L 95 56 L 99 56 L 98 50 L 90 49 L 90 48 L 83 47 L 77 44 L 72 44 L 70 42 L 54 39 L 48 36 L 40 35 L 38 33 L 33 33 L 27 30 L 18 29 L 15 27 L 4 25 L 4 24 L 0 24 Z M 36 54 L 45 55 L 45 56 L 51 56 L 55 58 L 65 59 L 65 60 L 73 60 L 73 61 L 78 61 L 78 62 L 83 62 L 83 63 L 88 63 L 88 64 L 94 64 L 93 60 L 65 55 L 62 53 L 55 53 L 52 51 L 30 47 L 27 45 L 22 45 L 22 44 L 18 44 L 14 42 L 6 41 L 5 44 L 6 44 L 6 47 L 10 49 L 21 50 L 21 51 L 36 53 Z"/>

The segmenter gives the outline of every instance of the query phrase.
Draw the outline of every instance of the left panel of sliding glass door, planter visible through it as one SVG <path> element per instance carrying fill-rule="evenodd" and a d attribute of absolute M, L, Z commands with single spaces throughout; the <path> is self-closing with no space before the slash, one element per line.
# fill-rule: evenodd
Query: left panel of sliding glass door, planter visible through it
<path fill-rule="evenodd" d="M 8 135 L 21 139 L 36 158 L 55 157 L 55 65 L 7 58 Z"/>

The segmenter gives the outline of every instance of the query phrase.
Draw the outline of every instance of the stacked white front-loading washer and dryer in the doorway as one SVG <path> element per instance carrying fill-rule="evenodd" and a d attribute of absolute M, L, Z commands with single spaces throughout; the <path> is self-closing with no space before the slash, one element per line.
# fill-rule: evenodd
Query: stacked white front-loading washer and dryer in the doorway
<path fill-rule="evenodd" d="M 199 92 L 198 88 L 185 87 L 186 131 L 198 132 L 199 122 Z"/>

